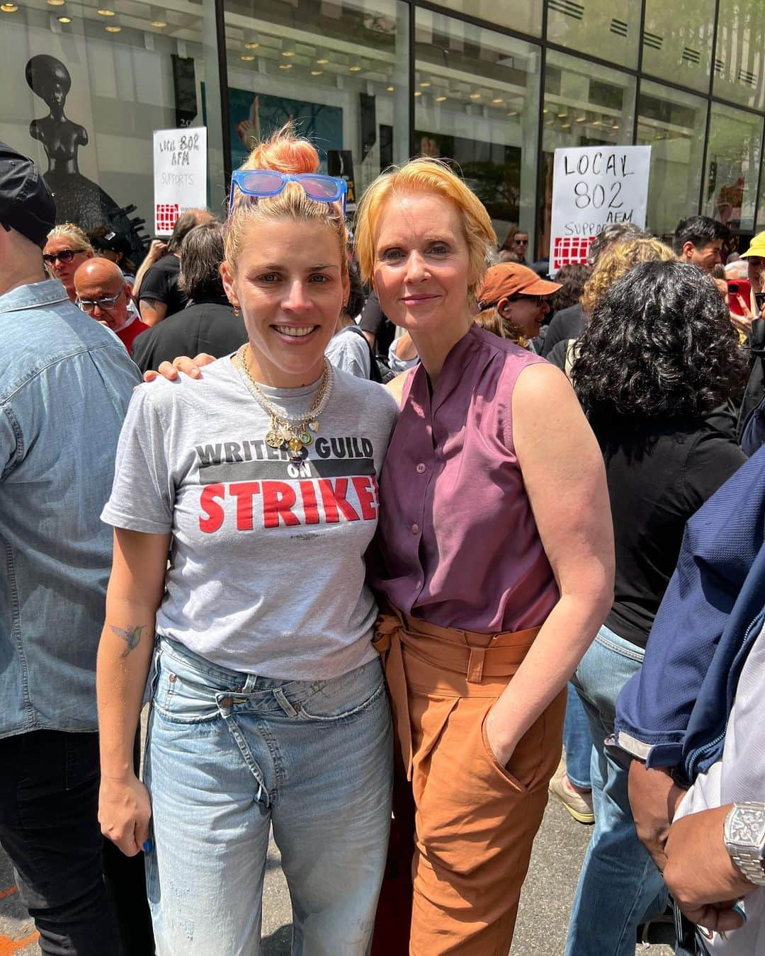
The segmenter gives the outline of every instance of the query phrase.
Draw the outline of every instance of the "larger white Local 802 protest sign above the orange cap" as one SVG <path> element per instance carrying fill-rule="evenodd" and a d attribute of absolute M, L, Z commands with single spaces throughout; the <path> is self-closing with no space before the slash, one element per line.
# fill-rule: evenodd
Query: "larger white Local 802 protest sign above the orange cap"
<path fill-rule="evenodd" d="M 611 223 L 645 228 L 650 146 L 557 149 L 553 166 L 550 274 L 586 262 L 593 239 Z"/>

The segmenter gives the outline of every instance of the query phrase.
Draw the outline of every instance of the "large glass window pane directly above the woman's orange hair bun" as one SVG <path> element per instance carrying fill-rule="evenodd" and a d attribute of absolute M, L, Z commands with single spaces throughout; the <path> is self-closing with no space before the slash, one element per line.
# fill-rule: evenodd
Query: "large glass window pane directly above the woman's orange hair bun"
<path fill-rule="evenodd" d="M 231 165 L 294 120 L 322 169 L 352 183 L 349 203 L 409 153 L 408 8 L 282 0 L 225 9 Z"/>

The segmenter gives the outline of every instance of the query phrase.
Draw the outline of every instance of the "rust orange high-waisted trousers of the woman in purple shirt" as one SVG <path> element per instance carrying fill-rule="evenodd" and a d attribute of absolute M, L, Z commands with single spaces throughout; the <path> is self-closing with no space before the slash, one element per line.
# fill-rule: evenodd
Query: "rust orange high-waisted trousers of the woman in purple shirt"
<path fill-rule="evenodd" d="M 393 707 L 398 765 L 399 839 L 392 845 L 413 854 L 410 956 L 507 956 L 513 941 L 532 843 L 560 759 L 565 688 L 507 767 L 495 760 L 485 724 L 537 630 L 476 634 L 396 609 L 378 619 L 375 646 Z M 401 894 L 400 880 L 390 886 Z M 383 923 L 391 909 L 386 891 L 383 885 L 374 951 L 405 956 L 405 933 L 393 943 L 396 930 Z"/>

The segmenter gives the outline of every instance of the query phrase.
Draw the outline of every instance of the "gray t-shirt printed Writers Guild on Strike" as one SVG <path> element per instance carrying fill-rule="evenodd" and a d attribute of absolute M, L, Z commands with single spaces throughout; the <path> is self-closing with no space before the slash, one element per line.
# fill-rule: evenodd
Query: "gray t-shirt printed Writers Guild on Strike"
<path fill-rule="evenodd" d="M 263 391 L 297 415 L 317 384 Z M 373 660 L 377 609 L 364 552 L 396 414 L 383 386 L 336 371 L 308 457 L 295 467 L 265 444 L 270 417 L 230 357 L 201 380 L 136 389 L 101 518 L 172 532 L 157 632 L 270 678 L 323 680 Z"/>

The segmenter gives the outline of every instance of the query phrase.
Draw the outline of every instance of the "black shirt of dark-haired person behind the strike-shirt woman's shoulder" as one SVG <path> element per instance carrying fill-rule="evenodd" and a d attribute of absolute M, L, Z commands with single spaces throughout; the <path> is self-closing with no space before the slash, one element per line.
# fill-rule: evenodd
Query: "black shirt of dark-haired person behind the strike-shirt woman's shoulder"
<path fill-rule="evenodd" d="M 241 315 L 234 315 L 223 296 L 194 302 L 183 312 L 142 332 L 133 342 L 133 361 L 142 372 L 156 371 L 160 362 L 200 352 L 220 359 L 247 341 Z"/>

